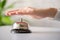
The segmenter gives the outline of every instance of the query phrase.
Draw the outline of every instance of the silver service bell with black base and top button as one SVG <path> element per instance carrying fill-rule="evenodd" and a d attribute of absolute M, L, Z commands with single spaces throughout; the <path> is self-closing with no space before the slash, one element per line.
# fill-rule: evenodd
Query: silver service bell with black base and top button
<path fill-rule="evenodd" d="M 13 24 L 12 31 L 15 33 L 31 33 L 31 31 L 28 29 L 28 23 L 23 22 L 22 18 L 21 22 L 16 22 Z"/>

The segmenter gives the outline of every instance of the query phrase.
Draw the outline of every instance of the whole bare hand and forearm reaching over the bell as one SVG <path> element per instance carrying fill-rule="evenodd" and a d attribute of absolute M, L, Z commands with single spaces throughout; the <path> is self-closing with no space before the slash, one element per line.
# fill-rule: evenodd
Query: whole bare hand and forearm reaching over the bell
<path fill-rule="evenodd" d="M 26 7 L 26 8 L 8 11 L 6 15 L 7 16 L 30 15 L 33 18 L 40 19 L 45 17 L 54 17 L 57 11 L 58 10 L 56 8 L 41 9 L 41 8 Z"/>

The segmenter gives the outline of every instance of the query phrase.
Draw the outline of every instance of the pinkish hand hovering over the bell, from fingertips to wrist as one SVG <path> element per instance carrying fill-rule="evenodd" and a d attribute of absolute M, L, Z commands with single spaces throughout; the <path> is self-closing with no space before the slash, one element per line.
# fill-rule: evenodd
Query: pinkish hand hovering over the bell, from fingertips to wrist
<path fill-rule="evenodd" d="M 36 13 L 36 8 L 26 7 L 26 8 L 21 8 L 21 9 L 17 9 L 17 10 L 8 11 L 6 13 L 6 15 L 7 16 L 12 16 L 12 15 L 30 15 L 30 16 L 32 16 L 34 18 L 40 18 L 35 13 Z"/>

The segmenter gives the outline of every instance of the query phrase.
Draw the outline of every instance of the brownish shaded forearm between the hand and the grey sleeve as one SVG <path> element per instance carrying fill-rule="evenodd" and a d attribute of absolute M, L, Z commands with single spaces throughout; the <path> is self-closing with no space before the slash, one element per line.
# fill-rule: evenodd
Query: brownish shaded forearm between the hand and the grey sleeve
<path fill-rule="evenodd" d="M 49 8 L 49 9 L 37 9 L 38 16 L 42 17 L 55 17 L 57 13 L 57 9 Z"/>

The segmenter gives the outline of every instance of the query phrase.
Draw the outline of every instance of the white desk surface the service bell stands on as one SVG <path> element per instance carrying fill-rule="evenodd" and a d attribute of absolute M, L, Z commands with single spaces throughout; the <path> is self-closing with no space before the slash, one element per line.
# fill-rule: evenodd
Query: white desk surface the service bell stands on
<path fill-rule="evenodd" d="M 31 27 L 32 33 L 13 34 L 11 26 L 0 27 L 0 40 L 60 40 L 59 27 Z"/>

